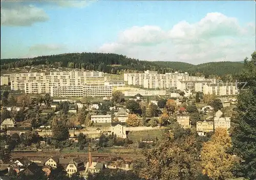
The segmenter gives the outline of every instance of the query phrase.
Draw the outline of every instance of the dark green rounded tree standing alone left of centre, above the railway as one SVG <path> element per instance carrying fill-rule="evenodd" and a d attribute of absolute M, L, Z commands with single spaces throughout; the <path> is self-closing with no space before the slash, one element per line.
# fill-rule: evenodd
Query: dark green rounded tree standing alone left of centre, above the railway
<path fill-rule="evenodd" d="M 67 119 L 63 117 L 54 117 L 52 121 L 52 137 L 58 141 L 67 140 L 69 129 Z"/>

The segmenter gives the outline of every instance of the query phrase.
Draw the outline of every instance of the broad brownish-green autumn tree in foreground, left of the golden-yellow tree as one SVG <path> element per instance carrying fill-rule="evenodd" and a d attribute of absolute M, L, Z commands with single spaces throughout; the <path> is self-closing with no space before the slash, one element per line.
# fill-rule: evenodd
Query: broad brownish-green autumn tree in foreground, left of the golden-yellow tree
<path fill-rule="evenodd" d="M 197 166 L 191 154 L 195 139 L 174 139 L 165 133 L 161 143 L 143 151 L 143 158 L 133 164 L 133 171 L 145 179 L 196 179 Z"/>

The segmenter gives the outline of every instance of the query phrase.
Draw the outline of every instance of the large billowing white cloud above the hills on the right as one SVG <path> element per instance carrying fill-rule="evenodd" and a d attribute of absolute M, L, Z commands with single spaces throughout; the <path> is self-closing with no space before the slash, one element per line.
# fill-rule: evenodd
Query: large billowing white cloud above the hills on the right
<path fill-rule="evenodd" d="M 168 31 L 157 26 L 132 27 L 120 33 L 116 42 L 103 44 L 99 52 L 194 64 L 237 61 L 254 51 L 253 30 L 255 24 L 241 27 L 236 18 L 214 12 L 195 24 L 181 21 Z M 246 48 L 240 50 L 241 44 Z"/>

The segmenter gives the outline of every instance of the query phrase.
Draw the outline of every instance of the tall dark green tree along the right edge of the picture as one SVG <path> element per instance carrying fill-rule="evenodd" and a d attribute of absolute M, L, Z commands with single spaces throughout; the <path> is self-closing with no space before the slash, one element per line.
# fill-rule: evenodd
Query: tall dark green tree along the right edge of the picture
<path fill-rule="evenodd" d="M 244 70 L 237 77 L 239 82 L 247 82 L 238 95 L 237 113 L 232 117 L 230 129 L 234 153 L 242 159 L 237 173 L 244 178 L 254 179 L 256 174 L 256 52 L 244 61 Z M 244 84 L 239 84 L 239 88 Z"/>

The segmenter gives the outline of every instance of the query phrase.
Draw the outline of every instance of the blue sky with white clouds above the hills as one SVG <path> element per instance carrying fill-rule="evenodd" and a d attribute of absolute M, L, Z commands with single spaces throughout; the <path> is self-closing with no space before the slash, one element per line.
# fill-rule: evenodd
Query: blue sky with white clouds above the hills
<path fill-rule="evenodd" d="M 255 14 L 255 1 L 1 1 L 1 59 L 242 61 L 255 51 Z"/>

